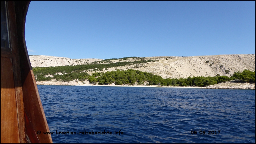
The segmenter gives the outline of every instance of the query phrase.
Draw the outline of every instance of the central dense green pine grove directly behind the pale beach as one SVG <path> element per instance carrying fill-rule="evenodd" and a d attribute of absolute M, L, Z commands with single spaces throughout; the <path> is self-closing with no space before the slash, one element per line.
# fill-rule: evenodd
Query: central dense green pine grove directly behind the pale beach
<path fill-rule="evenodd" d="M 149 72 L 141 72 L 138 70 L 125 70 L 125 71 L 112 71 L 100 73 L 93 73 L 92 76 L 79 77 L 79 80 L 89 80 L 90 83 L 97 83 L 99 85 L 112 84 L 123 85 L 123 84 L 143 84 L 148 81 L 148 85 L 159 85 L 159 86 L 199 86 L 205 87 L 208 85 L 214 85 L 217 83 L 232 80 L 228 76 L 216 76 L 216 77 L 188 77 L 186 79 L 163 79 L 161 76 L 154 75 Z"/>

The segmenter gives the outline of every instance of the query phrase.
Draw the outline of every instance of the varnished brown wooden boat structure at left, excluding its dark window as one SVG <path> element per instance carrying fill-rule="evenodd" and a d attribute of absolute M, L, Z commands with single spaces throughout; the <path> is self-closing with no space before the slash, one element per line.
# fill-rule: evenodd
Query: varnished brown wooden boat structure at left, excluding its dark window
<path fill-rule="evenodd" d="M 29 3 L 6 1 L 10 49 L 1 45 L 1 143 L 52 143 L 43 134 L 50 131 L 25 42 Z"/>

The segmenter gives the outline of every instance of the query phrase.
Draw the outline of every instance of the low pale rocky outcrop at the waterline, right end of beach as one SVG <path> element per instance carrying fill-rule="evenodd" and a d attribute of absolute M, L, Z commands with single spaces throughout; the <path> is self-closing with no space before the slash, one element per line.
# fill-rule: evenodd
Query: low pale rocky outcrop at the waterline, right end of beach
<path fill-rule="evenodd" d="M 224 83 L 219 83 L 216 85 L 209 85 L 202 88 L 213 88 L 213 89 L 254 89 L 255 84 L 250 83 L 236 83 L 234 81 L 226 81 Z"/>

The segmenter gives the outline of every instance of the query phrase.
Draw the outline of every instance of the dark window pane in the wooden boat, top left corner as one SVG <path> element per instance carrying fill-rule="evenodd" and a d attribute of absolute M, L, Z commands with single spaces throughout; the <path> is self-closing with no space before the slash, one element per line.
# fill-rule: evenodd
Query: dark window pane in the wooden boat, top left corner
<path fill-rule="evenodd" d="M 1 47 L 10 48 L 5 1 L 1 1 Z"/>

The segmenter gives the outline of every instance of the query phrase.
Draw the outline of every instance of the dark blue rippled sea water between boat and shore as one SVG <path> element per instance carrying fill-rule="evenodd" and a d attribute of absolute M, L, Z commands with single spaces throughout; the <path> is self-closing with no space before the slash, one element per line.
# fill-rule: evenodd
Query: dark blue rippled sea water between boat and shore
<path fill-rule="evenodd" d="M 54 143 L 255 143 L 255 90 L 38 85 L 38 91 Z M 112 135 L 79 134 L 104 130 Z M 200 130 L 206 133 L 191 134 Z"/>

